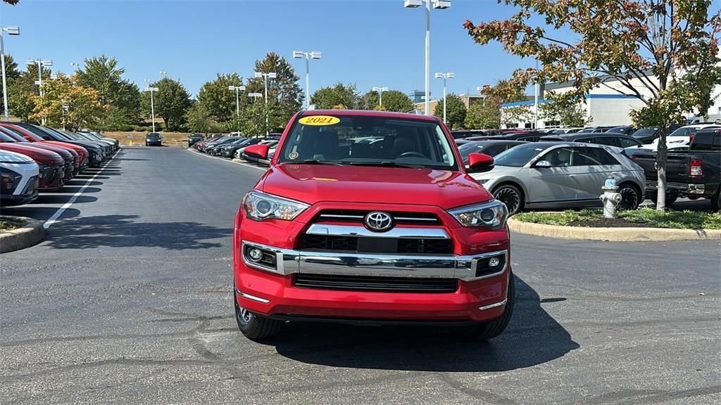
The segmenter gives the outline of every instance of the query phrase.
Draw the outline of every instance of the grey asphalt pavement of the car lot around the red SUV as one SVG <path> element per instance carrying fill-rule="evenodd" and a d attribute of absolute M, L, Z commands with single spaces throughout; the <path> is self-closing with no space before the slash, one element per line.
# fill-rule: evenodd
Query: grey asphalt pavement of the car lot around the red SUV
<path fill-rule="evenodd" d="M 50 218 L 0 257 L 0 402 L 718 404 L 718 241 L 513 235 L 505 333 L 288 324 L 237 331 L 231 233 L 262 170 L 180 147 L 124 148 L 9 215 Z M 43 205 L 43 208 L 33 205 Z"/>

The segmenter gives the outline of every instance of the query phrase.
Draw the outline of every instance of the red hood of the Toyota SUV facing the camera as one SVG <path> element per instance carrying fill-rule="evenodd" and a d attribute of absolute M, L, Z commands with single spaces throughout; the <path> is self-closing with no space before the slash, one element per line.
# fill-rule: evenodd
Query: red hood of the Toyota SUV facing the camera
<path fill-rule="evenodd" d="M 260 190 L 308 204 L 319 201 L 435 205 L 443 209 L 492 199 L 467 174 L 433 169 L 281 164 Z"/>

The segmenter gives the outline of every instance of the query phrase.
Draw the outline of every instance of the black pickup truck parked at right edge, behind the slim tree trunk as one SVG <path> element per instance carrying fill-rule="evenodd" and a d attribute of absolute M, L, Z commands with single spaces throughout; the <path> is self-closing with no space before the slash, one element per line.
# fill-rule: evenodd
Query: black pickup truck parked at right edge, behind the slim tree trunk
<path fill-rule="evenodd" d="M 721 209 L 721 129 L 699 130 L 689 144 L 688 151 L 668 153 L 666 161 L 666 205 L 678 197 L 691 200 L 708 198 L 711 207 Z M 646 195 L 656 200 L 656 153 L 641 152 L 632 156 L 646 174 Z"/>

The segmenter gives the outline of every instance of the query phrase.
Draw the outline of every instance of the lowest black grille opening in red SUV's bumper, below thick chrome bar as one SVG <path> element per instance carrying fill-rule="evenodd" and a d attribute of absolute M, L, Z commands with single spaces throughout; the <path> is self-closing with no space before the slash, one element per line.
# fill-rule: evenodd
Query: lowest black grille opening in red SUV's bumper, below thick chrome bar
<path fill-rule="evenodd" d="M 373 291 L 376 293 L 455 293 L 453 278 L 364 277 L 350 275 L 306 275 L 293 277 L 298 288 L 316 290 Z"/>

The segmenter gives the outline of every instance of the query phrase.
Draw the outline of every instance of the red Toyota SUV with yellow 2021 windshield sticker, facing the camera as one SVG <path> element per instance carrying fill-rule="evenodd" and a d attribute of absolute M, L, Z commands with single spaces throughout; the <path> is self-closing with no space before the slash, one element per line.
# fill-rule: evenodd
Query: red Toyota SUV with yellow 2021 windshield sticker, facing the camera
<path fill-rule="evenodd" d="M 245 153 L 268 159 L 268 147 Z M 283 133 L 234 228 L 236 320 L 250 339 L 286 321 L 508 325 L 508 210 L 475 182 L 436 117 L 310 110 Z M 472 153 L 468 171 L 492 169 Z"/>

